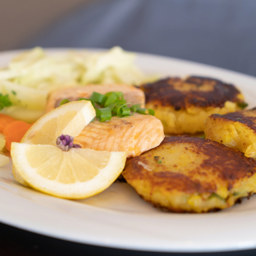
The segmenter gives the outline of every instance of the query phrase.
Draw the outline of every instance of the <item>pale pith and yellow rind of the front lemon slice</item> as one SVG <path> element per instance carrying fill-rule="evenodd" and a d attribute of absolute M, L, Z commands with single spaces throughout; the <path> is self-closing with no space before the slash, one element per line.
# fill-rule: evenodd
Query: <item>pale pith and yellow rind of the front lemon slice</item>
<path fill-rule="evenodd" d="M 85 199 L 96 195 L 107 189 L 119 177 L 125 167 L 126 153 L 111 152 L 108 165 L 103 169 L 99 169 L 99 174 L 93 177 L 93 179 L 72 184 L 58 183 L 57 181 L 51 181 L 42 177 L 35 168 L 29 165 L 25 156 L 25 149 L 28 146 L 29 144 L 25 143 L 12 143 L 11 145 L 11 156 L 15 168 L 19 170 L 17 172 L 30 187 L 55 197 Z M 49 145 L 47 146 L 49 147 Z"/>

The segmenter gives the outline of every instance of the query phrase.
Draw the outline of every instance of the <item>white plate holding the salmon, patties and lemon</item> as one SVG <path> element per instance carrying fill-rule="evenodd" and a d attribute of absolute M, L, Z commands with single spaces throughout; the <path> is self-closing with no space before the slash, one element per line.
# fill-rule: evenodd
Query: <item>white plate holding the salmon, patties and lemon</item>
<path fill-rule="evenodd" d="M 0 67 L 15 54 L 1 53 Z M 137 65 L 163 77 L 193 74 L 235 83 L 250 107 L 256 105 L 254 77 L 146 54 L 137 55 Z M 89 199 L 71 201 L 19 185 L 11 175 L 11 163 L 0 168 L 0 221 L 59 239 L 143 251 L 235 251 L 256 248 L 255 219 L 256 196 L 217 213 L 165 213 L 140 199 L 125 183 L 114 183 Z"/>

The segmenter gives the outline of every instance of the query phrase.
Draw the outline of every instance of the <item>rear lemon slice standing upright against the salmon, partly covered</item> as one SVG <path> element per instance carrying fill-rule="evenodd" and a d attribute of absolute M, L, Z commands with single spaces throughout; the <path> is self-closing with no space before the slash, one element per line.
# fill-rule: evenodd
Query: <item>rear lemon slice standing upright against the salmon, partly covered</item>
<path fill-rule="evenodd" d="M 61 134 L 75 137 L 95 117 L 95 109 L 91 101 L 73 101 L 53 109 L 38 119 L 25 133 L 21 143 L 34 145 L 56 145 L 56 139 Z M 19 175 L 13 165 L 13 177 L 19 183 L 29 184 Z"/>

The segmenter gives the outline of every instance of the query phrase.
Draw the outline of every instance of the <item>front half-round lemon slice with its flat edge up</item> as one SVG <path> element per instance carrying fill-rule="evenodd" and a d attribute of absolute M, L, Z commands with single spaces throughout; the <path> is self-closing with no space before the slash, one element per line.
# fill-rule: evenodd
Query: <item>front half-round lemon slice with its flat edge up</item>
<path fill-rule="evenodd" d="M 12 143 L 17 172 L 34 189 L 67 199 L 83 199 L 109 187 L 125 167 L 125 152 L 69 149 Z"/>

